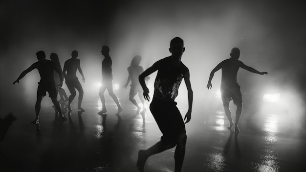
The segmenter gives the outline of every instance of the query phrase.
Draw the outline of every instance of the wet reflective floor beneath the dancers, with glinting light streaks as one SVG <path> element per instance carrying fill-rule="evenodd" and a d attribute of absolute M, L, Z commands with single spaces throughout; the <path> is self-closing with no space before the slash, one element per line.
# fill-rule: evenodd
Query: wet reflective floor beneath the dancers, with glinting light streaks
<path fill-rule="evenodd" d="M 32 101 L 30 101 L 32 102 Z M 35 118 L 34 102 L 13 110 L 18 118 L 0 142 L 0 171 L 10 172 L 137 172 L 139 149 L 159 141 L 161 133 L 150 113 L 135 114 L 128 100 L 120 99 L 124 111 L 119 118 L 116 107 L 107 99 L 106 116 L 99 99 L 85 99 L 85 112 L 69 113 L 59 122 L 51 101 L 43 100 L 40 125 Z M 147 104 L 148 108 L 149 104 Z M 178 102 L 183 116 L 187 102 Z M 244 109 L 240 133 L 227 129 L 223 110 L 203 109 L 195 102 L 192 120 L 186 124 L 187 145 L 183 172 L 297 172 L 304 171 L 306 159 L 305 118 L 283 112 Z M 255 115 L 254 115 L 255 114 Z M 173 172 L 174 151 L 150 157 L 146 172 Z"/>

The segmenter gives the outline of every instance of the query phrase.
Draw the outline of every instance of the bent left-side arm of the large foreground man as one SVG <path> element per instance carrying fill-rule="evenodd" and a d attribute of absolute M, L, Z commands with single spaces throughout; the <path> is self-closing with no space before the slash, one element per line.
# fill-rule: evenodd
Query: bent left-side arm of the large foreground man
<path fill-rule="evenodd" d="M 145 77 L 157 71 L 159 69 L 159 66 L 160 66 L 160 62 L 159 61 L 155 62 L 150 68 L 148 68 L 145 72 L 140 74 L 138 77 L 140 85 L 143 89 L 143 96 L 148 101 L 150 101 L 150 97 L 149 97 L 149 89 L 145 83 Z"/>

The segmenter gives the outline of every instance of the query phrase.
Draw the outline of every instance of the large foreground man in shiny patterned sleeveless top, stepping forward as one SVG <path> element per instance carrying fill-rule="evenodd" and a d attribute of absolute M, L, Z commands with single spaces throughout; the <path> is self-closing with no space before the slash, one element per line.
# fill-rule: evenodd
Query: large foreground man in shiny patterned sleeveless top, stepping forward
<path fill-rule="evenodd" d="M 187 135 L 184 121 L 174 100 L 178 94 L 178 87 L 184 78 L 188 90 L 188 111 L 184 120 L 188 123 L 191 119 L 193 91 L 189 80 L 189 70 L 181 62 L 181 56 L 185 51 L 183 40 L 178 37 L 172 39 L 169 50 L 172 53 L 171 56 L 155 62 L 139 76 L 144 98 L 149 101 L 149 89 L 145 84 L 145 77 L 158 71 L 150 110 L 163 134 L 155 145 L 147 150 L 139 150 L 136 165 L 140 172 L 144 171 L 148 157 L 175 146 L 175 172 L 181 172 L 183 165 Z"/>

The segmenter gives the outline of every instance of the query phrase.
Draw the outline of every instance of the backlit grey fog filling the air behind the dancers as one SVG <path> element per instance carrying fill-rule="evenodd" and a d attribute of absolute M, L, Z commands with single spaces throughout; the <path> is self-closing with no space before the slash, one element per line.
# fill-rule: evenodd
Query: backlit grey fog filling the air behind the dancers
<path fill-rule="evenodd" d="M 37 61 L 35 54 L 39 50 L 45 51 L 47 59 L 51 52 L 57 53 L 62 67 L 72 50 L 79 52 L 86 99 L 98 98 L 103 60 L 100 51 L 108 45 L 113 83 L 120 88 L 116 92 L 120 98 L 128 98 L 123 85 L 131 59 L 141 55 L 140 65 L 147 69 L 170 55 L 170 40 L 176 36 L 184 40 L 182 62 L 190 70 L 195 104 L 209 107 L 207 97 L 219 89 L 221 72 L 215 74 L 212 90 L 206 89 L 209 74 L 230 57 L 234 47 L 240 49 L 244 64 L 268 72 L 261 76 L 240 69 L 241 92 L 281 90 L 291 96 L 288 103 L 304 103 L 301 88 L 305 86 L 306 21 L 302 2 L 32 2 L 1 2 L 0 95 L 5 112 L 16 108 L 14 101 L 20 98 L 34 104 L 37 71 L 27 74 L 18 85 L 12 83 Z M 149 81 L 151 96 L 154 76 Z M 181 85 L 177 101 L 187 97 L 186 87 Z"/>

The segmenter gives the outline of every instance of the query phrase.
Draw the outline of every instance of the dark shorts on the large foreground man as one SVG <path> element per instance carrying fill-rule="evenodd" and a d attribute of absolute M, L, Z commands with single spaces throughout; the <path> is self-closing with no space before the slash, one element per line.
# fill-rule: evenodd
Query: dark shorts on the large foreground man
<path fill-rule="evenodd" d="M 153 98 L 150 104 L 151 113 L 163 136 L 162 142 L 177 143 L 179 136 L 186 133 L 185 123 L 176 102 L 167 102 Z"/>

